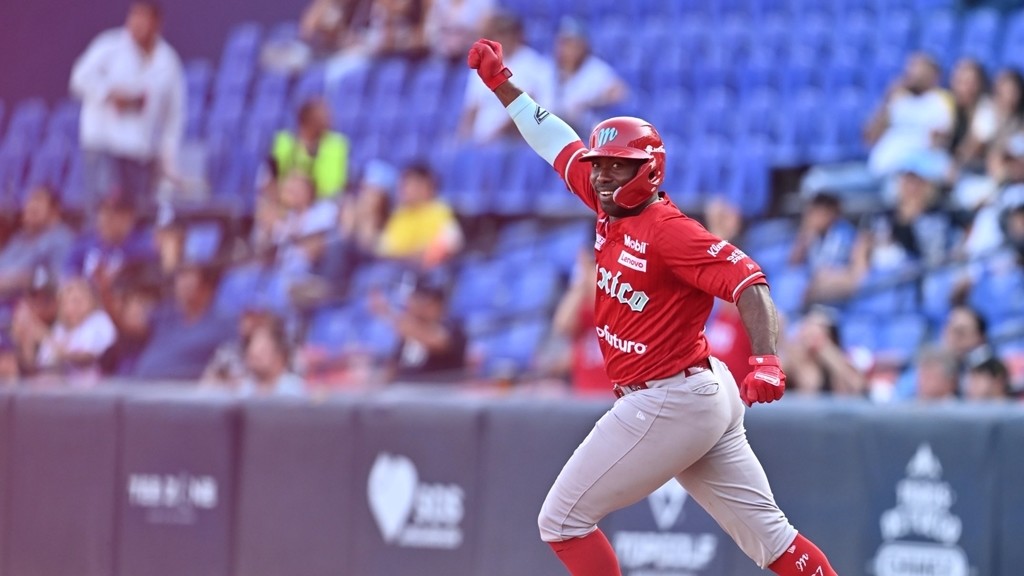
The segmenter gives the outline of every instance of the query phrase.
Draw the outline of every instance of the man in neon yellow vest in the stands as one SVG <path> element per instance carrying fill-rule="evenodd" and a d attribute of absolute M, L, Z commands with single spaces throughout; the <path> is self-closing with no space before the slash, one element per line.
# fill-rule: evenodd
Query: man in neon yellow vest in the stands
<path fill-rule="evenodd" d="M 334 198 L 348 179 L 348 138 L 331 130 L 331 112 L 321 98 L 299 108 L 295 133 L 278 132 L 273 139 L 273 161 L 279 181 L 293 172 L 312 180 L 319 199 Z"/>

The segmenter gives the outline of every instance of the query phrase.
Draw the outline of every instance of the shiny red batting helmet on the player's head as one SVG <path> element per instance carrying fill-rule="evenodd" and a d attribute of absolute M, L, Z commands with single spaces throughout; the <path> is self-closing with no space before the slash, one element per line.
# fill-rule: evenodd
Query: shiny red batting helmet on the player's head
<path fill-rule="evenodd" d="M 590 150 L 581 162 L 595 158 L 630 158 L 645 160 L 637 175 L 623 184 L 611 197 L 623 208 L 636 208 L 657 192 L 665 179 L 665 142 L 650 122 L 618 116 L 594 127 L 590 133 Z"/>

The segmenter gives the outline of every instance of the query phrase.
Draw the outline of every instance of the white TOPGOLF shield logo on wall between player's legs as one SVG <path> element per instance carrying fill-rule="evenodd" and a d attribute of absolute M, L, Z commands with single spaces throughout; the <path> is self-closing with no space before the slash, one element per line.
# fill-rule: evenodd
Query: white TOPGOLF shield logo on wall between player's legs
<path fill-rule="evenodd" d="M 671 532 L 685 528 L 683 506 L 688 499 L 686 490 L 671 480 L 647 496 L 656 532 L 621 530 L 614 533 L 612 545 L 623 574 L 682 576 L 708 568 L 718 551 L 717 535 Z"/>

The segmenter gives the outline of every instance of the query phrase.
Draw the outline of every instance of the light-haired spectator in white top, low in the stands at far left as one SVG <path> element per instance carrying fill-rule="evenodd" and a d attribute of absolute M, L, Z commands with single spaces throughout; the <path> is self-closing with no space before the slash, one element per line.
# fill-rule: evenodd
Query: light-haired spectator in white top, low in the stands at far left
<path fill-rule="evenodd" d="M 56 324 L 39 336 L 35 371 L 94 376 L 99 357 L 117 339 L 117 328 L 89 282 L 73 278 L 57 293 Z"/>

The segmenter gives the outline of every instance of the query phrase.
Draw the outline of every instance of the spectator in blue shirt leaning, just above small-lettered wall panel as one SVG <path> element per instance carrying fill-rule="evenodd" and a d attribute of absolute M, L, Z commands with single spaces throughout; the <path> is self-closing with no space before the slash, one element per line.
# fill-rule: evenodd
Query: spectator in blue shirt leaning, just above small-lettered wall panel
<path fill-rule="evenodd" d="M 186 263 L 174 276 L 173 301 L 153 323 L 153 336 L 131 376 L 146 380 L 199 379 L 217 346 L 230 338 L 232 323 L 213 307 L 219 273 Z"/>

